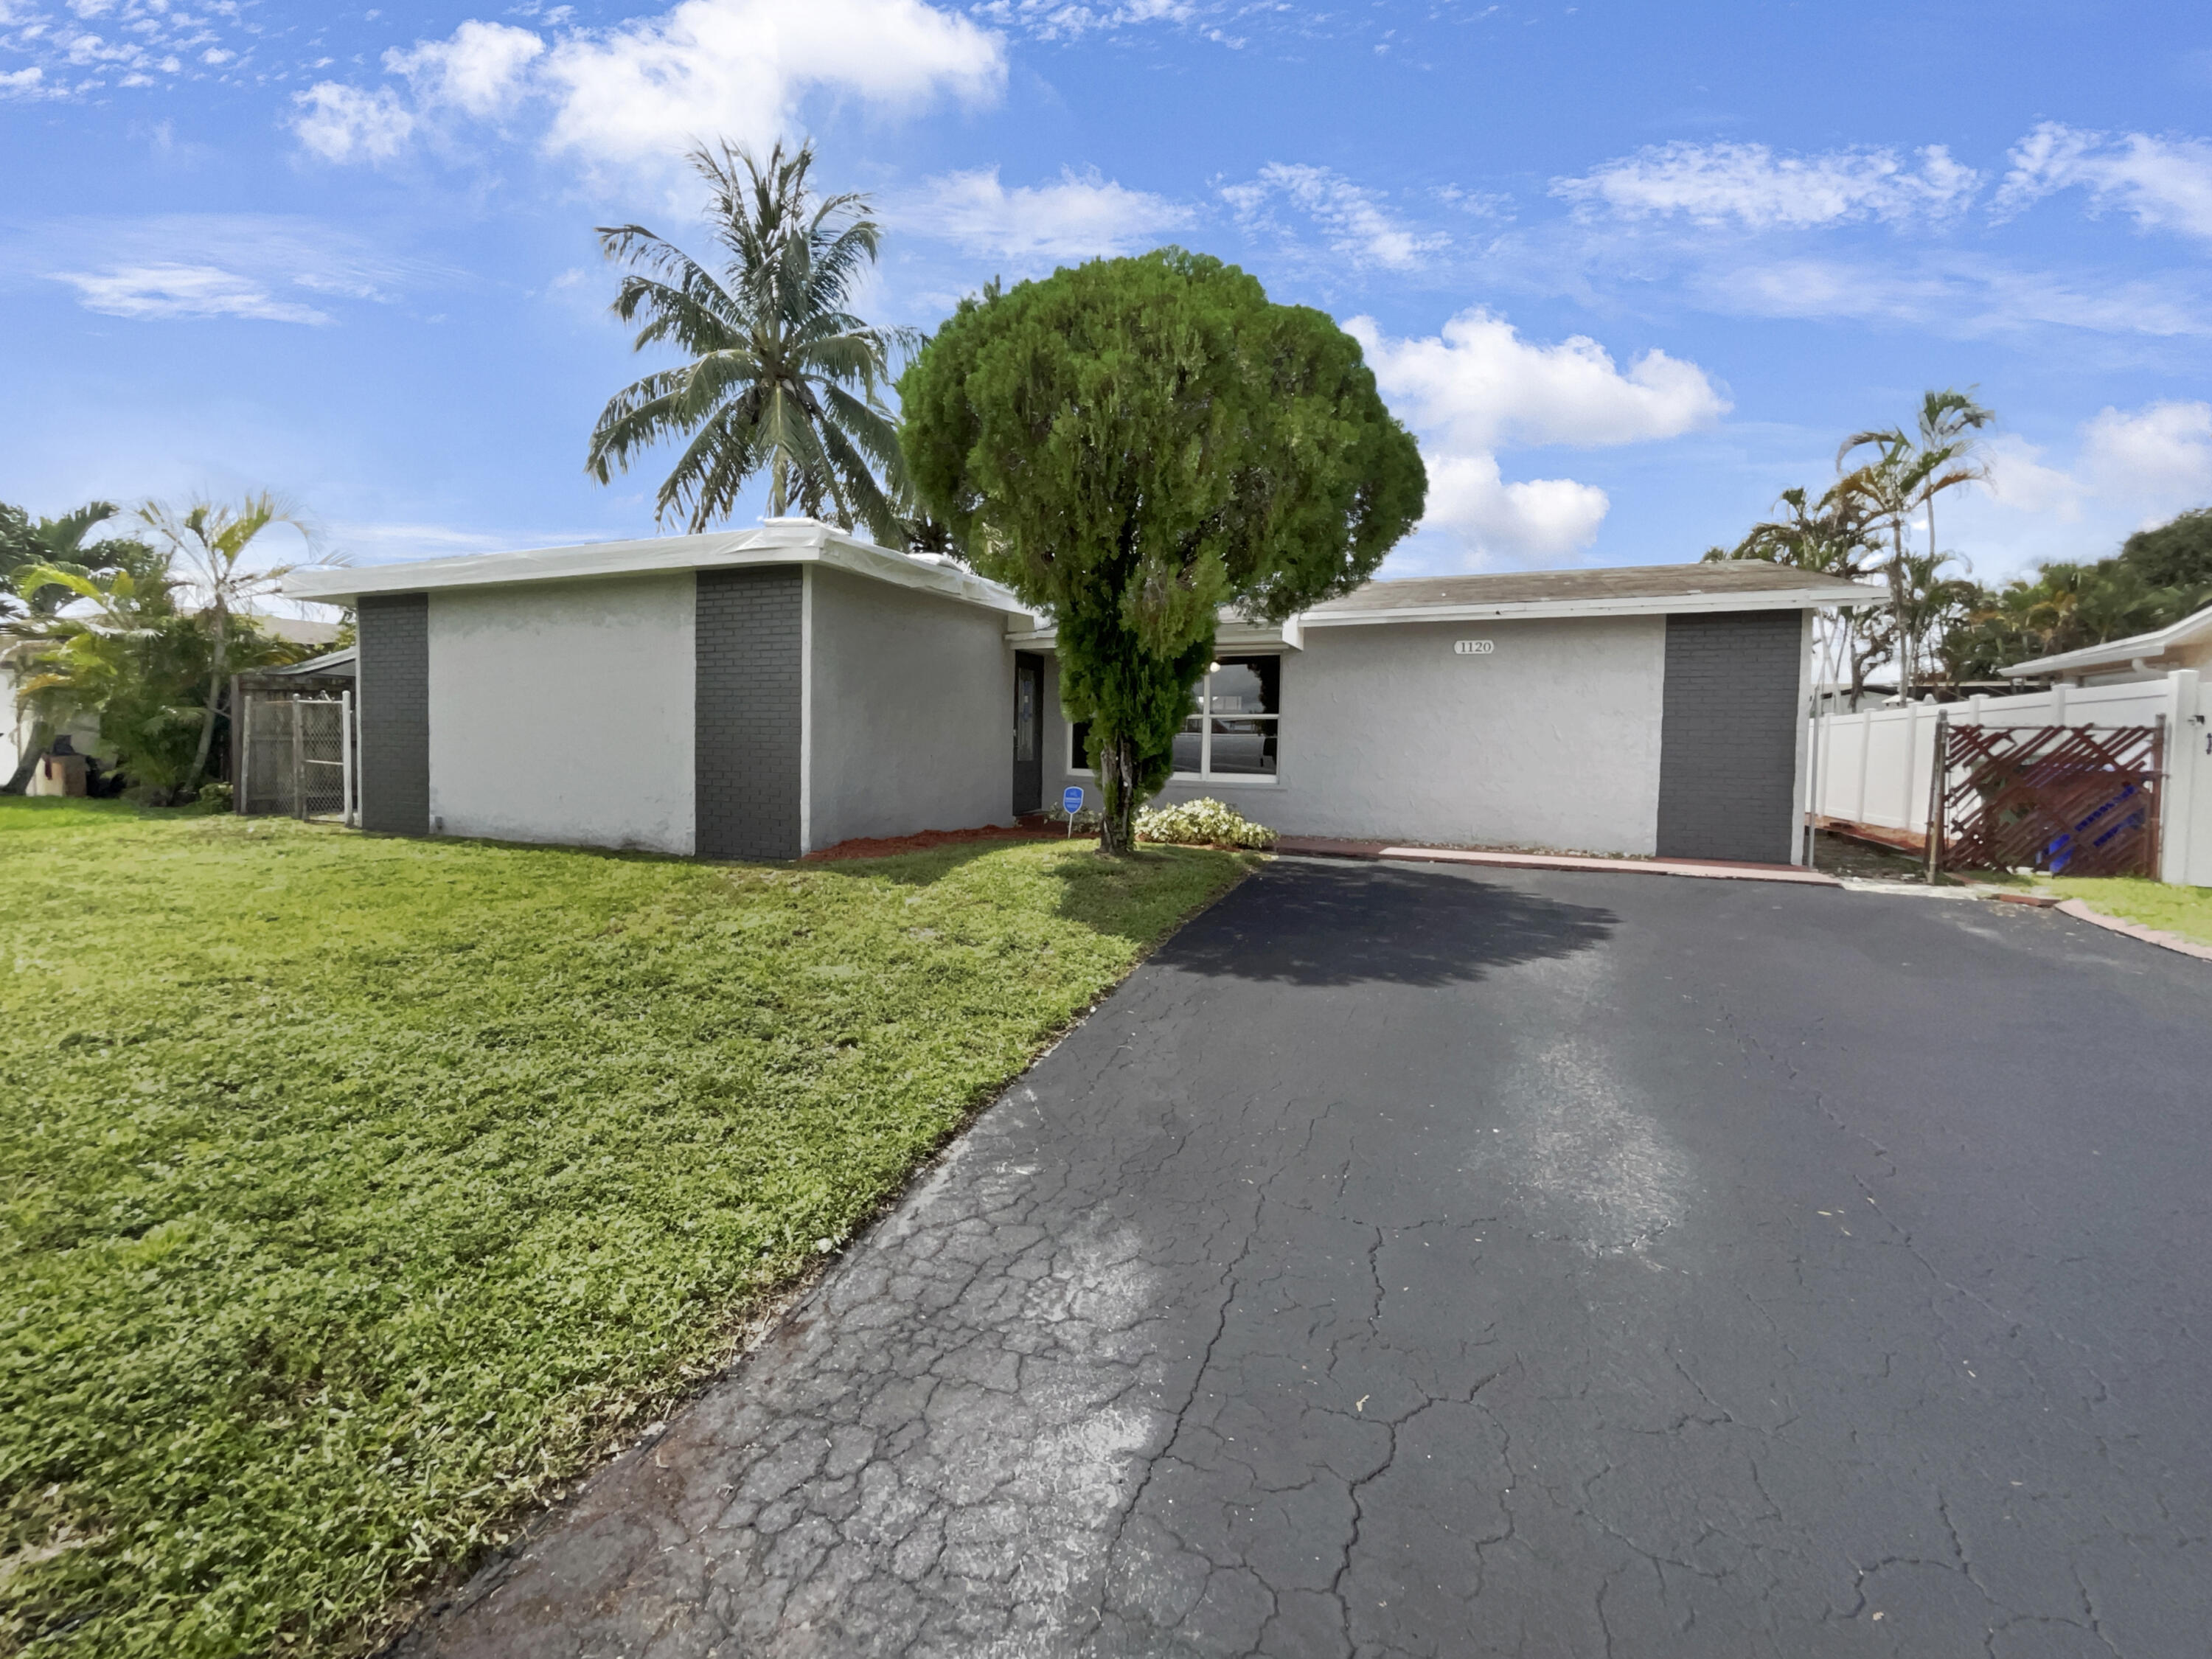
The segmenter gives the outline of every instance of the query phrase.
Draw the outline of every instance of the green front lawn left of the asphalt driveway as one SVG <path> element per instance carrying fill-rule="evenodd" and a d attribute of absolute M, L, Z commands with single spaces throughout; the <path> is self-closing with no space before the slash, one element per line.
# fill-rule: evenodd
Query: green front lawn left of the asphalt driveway
<path fill-rule="evenodd" d="M 0 799 L 0 1650 L 361 1650 L 1248 860 Z"/>

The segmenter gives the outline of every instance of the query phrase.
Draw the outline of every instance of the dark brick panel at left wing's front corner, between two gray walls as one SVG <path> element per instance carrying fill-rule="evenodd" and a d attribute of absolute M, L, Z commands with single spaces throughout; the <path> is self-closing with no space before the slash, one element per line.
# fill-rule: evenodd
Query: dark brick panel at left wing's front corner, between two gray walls
<path fill-rule="evenodd" d="M 796 566 L 699 571 L 701 858 L 796 858 L 803 597 Z"/>

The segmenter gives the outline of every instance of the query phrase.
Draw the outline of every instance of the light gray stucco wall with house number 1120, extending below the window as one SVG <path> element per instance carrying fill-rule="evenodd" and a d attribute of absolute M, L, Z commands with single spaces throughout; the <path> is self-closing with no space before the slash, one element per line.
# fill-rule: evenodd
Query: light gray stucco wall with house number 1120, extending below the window
<path fill-rule="evenodd" d="M 1663 677 L 1661 617 L 1307 628 L 1283 655 L 1281 781 L 1161 799 L 1210 794 L 1285 834 L 1650 854 Z M 1053 681 L 1048 803 L 1093 787 L 1066 776 Z"/>

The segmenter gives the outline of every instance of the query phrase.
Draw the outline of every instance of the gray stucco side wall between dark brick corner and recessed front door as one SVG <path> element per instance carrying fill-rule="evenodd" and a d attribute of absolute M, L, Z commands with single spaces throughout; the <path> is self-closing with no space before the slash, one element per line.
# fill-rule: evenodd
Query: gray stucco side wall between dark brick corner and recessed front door
<path fill-rule="evenodd" d="M 1006 619 L 827 566 L 807 580 L 807 852 L 1011 823 Z"/>

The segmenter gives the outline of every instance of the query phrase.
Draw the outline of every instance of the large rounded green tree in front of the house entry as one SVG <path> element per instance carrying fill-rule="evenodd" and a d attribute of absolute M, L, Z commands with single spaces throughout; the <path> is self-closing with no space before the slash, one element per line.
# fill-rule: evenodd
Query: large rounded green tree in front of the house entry
<path fill-rule="evenodd" d="M 898 394 L 920 504 L 1053 617 L 1108 854 L 1168 779 L 1221 608 L 1352 591 L 1427 495 L 1358 343 L 1179 248 L 962 301 Z"/>

